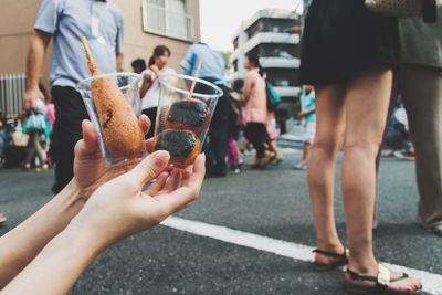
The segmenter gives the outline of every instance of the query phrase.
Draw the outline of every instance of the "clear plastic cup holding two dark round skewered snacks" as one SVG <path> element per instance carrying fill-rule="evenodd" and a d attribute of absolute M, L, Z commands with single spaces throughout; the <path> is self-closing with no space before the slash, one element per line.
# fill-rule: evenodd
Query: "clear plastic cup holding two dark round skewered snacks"
<path fill-rule="evenodd" d="M 186 168 L 201 152 L 218 98 L 223 93 L 210 82 L 187 75 L 160 75 L 159 83 L 155 149 L 169 151 L 170 162 Z"/>

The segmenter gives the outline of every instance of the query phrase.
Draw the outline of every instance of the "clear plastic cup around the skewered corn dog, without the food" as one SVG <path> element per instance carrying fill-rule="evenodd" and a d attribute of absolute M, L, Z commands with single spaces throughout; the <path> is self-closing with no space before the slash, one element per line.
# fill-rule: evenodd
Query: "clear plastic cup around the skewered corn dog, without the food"
<path fill-rule="evenodd" d="M 104 74 L 98 76 L 93 76 L 86 80 L 81 81 L 76 85 L 76 91 L 78 91 L 83 97 L 83 102 L 86 106 L 87 114 L 90 115 L 91 122 L 95 127 L 95 130 L 98 135 L 98 144 L 102 150 L 102 154 L 108 165 L 125 165 L 131 161 L 136 161 L 141 159 L 146 155 L 146 145 L 143 145 L 143 148 L 137 149 L 137 152 L 131 152 L 129 156 L 119 156 L 116 152 L 112 152 L 109 148 L 106 147 L 102 124 L 99 123 L 99 116 L 97 114 L 97 109 L 94 104 L 94 97 L 91 92 L 91 82 L 96 78 L 108 77 L 113 80 L 116 85 L 118 86 L 119 91 L 123 93 L 124 97 L 126 98 L 127 104 L 129 105 L 130 109 L 134 112 L 134 115 L 138 118 L 141 113 L 141 103 L 139 98 L 139 88 L 141 84 L 141 77 L 135 73 L 112 73 L 112 74 Z M 125 134 L 127 130 L 122 129 L 118 130 L 124 134 L 119 135 L 120 137 L 127 136 Z M 141 131 L 143 134 L 143 131 Z M 112 135 L 114 137 L 114 135 Z M 115 138 L 119 136 L 115 135 Z M 143 137 L 144 140 L 144 137 Z M 124 148 L 124 147 L 123 147 Z M 122 152 L 124 154 L 124 152 Z"/>

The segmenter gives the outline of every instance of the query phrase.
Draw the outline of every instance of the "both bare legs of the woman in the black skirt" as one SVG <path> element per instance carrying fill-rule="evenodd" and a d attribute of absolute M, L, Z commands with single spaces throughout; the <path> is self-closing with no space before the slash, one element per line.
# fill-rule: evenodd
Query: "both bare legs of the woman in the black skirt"
<path fill-rule="evenodd" d="M 377 275 L 378 265 L 371 230 L 376 156 L 382 141 L 391 83 L 391 70 L 372 69 L 347 84 L 315 87 L 317 122 L 308 166 L 308 185 L 317 246 L 325 251 L 344 252 L 334 215 L 335 168 L 338 151 L 344 145 L 341 185 L 350 250 L 348 268 L 373 276 Z M 334 260 L 318 253 L 315 255 L 318 263 L 332 263 Z M 401 275 L 390 272 L 392 278 Z M 361 286 L 375 284 L 352 281 L 347 274 L 345 281 Z M 408 292 L 418 286 L 419 280 L 410 277 L 390 283 L 389 291 Z"/>

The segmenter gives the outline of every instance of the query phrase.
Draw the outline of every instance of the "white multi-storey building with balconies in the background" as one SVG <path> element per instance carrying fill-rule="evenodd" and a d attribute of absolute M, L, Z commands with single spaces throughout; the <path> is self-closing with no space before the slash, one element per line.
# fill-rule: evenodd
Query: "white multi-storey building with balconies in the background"
<path fill-rule="evenodd" d="M 288 10 L 260 10 L 236 30 L 233 48 L 230 59 L 232 81 L 243 78 L 245 54 L 257 54 L 267 80 L 285 107 L 293 105 L 301 89 L 301 15 Z"/>

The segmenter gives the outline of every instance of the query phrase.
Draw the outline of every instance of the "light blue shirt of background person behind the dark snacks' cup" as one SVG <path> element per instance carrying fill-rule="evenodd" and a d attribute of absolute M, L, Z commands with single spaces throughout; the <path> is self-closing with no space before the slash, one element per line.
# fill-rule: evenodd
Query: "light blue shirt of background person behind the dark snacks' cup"
<path fill-rule="evenodd" d="M 224 80 L 225 62 L 220 53 L 212 51 L 207 44 L 192 44 L 181 61 L 182 74 L 193 76 L 199 59 L 202 65 L 198 77 L 211 77 L 222 82 Z M 217 83 L 218 84 L 218 83 Z"/>

